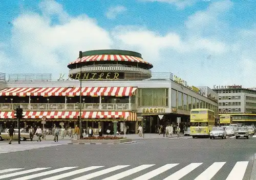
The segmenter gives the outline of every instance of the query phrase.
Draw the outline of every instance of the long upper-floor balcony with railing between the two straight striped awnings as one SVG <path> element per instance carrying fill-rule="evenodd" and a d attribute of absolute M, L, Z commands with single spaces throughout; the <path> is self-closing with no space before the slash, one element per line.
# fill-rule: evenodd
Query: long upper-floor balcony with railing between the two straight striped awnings
<path fill-rule="evenodd" d="M 25 111 L 74 111 L 79 110 L 79 104 L 0 104 L 0 110 L 10 111 L 18 106 Z M 82 111 L 132 111 L 135 104 L 87 104 L 82 103 Z"/>

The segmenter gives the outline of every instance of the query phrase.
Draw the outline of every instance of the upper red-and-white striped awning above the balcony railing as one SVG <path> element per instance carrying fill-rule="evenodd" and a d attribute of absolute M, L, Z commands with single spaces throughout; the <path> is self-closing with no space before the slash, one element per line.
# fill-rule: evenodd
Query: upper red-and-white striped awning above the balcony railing
<path fill-rule="evenodd" d="M 131 96 L 136 87 L 83 87 L 82 96 Z M 0 96 L 79 96 L 80 88 L 6 88 Z"/>

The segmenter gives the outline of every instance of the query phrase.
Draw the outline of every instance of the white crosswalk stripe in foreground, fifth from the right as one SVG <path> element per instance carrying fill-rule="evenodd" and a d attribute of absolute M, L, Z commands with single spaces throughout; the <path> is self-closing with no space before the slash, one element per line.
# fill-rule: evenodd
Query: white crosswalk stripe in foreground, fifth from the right
<path fill-rule="evenodd" d="M 123 177 L 126 177 L 126 176 L 129 176 L 131 174 L 134 174 L 136 172 L 139 172 L 139 171 L 142 171 L 146 168 L 149 168 L 151 166 L 154 166 L 155 164 L 147 164 L 147 165 L 141 165 L 141 166 L 138 166 L 136 168 L 133 168 L 133 169 L 129 169 L 127 171 L 124 171 L 124 172 L 120 172 L 118 174 L 115 174 L 113 176 L 110 176 L 110 177 L 107 177 L 107 178 L 104 178 L 104 179 L 101 179 L 101 180 L 118 180 L 118 179 L 121 179 Z"/>

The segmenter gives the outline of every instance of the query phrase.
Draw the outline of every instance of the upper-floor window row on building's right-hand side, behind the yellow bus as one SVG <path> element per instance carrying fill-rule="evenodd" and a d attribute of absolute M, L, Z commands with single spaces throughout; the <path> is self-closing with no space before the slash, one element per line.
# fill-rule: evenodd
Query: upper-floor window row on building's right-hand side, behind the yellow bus
<path fill-rule="evenodd" d="M 217 114 L 218 107 L 209 104 L 203 100 L 189 96 L 185 93 L 172 89 L 172 108 L 178 108 L 180 110 L 191 110 L 196 108 L 207 108 L 215 111 Z"/>

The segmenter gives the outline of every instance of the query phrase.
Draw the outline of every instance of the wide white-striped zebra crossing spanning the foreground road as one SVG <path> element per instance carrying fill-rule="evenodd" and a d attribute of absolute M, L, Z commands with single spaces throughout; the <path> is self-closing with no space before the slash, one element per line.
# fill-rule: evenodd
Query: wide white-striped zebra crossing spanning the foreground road
<path fill-rule="evenodd" d="M 100 179 L 100 180 L 243 180 L 247 172 L 248 161 L 234 162 L 232 166 L 226 162 L 215 162 L 213 164 L 205 163 L 190 163 L 190 164 L 165 164 L 159 166 L 156 164 L 144 164 L 140 166 L 131 165 L 117 165 L 114 167 L 105 166 L 90 166 L 90 167 L 61 167 L 61 168 L 12 168 L 0 170 L 0 179 L 12 180 L 27 180 L 27 179 L 41 179 L 41 180 L 57 180 L 57 179 L 71 179 L 71 180 L 86 180 L 86 179 Z M 204 168 L 199 168 L 204 166 Z M 226 166 L 226 167 L 225 167 Z M 222 168 L 229 167 L 225 174 L 219 173 Z M 198 169 L 199 168 L 199 169 Z M 205 169 L 206 168 L 206 169 Z M 204 170 L 205 169 L 205 170 Z M 193 173 L 191 175 L 191 173 Z M 171 173 L 172 172 L 172 173 Z M 218 176 L 219 173 L 219 176 Z M 248 172 L 247 172 L 248 173 Z M 247 176 L 246 176 L 247 178 Z"/>

